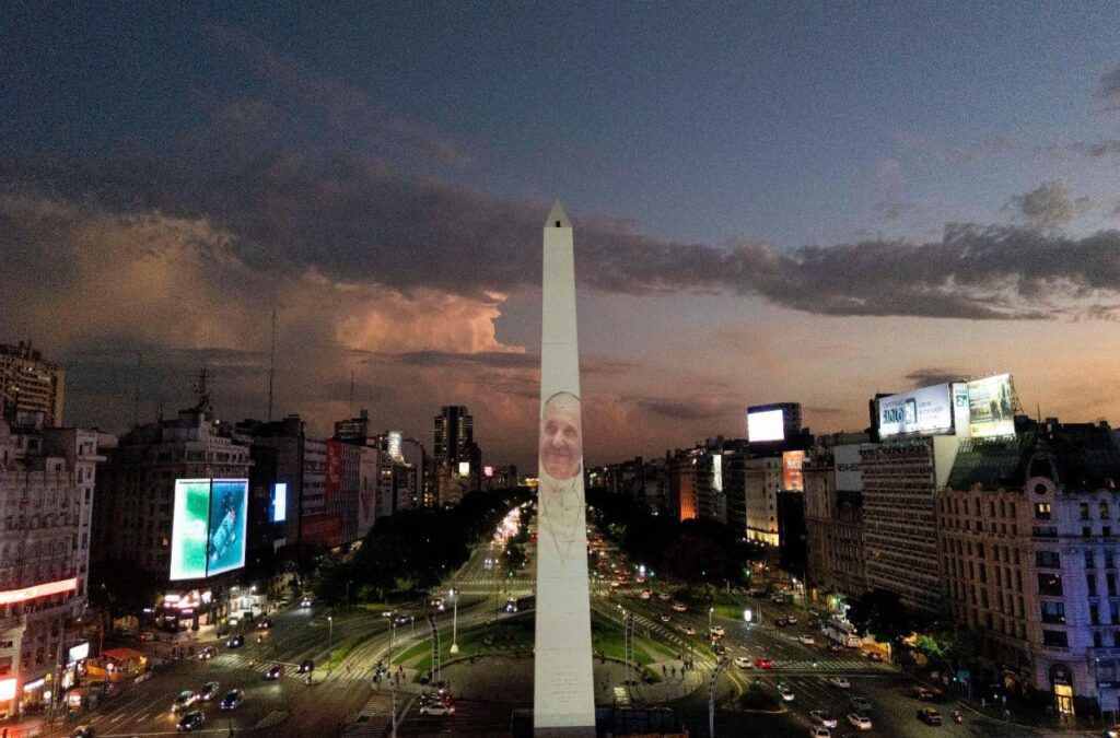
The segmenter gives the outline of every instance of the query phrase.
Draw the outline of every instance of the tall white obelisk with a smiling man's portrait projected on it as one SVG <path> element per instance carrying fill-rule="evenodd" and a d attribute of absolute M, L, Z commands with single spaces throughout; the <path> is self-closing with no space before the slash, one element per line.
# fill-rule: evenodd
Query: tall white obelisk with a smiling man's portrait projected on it
<path fill-rule="evenodd" d="M 541 305 L 533 735 L 595 736 L 576 267 L 559 202 L 544 224 Z"/>

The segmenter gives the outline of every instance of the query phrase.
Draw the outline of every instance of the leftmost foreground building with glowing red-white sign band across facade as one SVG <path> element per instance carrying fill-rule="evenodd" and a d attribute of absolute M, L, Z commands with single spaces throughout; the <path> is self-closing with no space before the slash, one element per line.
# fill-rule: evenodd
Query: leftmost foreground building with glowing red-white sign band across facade
<path fill-rule="evenodd" d="M 0 718 L 41 708 L 88 655 L 97 433 L 0 419 Z"/>

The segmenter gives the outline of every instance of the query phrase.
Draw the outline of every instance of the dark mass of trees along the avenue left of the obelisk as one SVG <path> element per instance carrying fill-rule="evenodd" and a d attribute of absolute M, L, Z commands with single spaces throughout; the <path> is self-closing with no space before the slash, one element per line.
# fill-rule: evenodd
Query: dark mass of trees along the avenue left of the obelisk
<path fill-rule="evenodd" d="M 530 496 L 526 489 L 473 493 L 451 508 L 407 510 L 380 519 L 357 551 L 324 562 L 315 594 L 324 601 L 383 600 L 441 581 L 470 555 L 470 544 Z"/>

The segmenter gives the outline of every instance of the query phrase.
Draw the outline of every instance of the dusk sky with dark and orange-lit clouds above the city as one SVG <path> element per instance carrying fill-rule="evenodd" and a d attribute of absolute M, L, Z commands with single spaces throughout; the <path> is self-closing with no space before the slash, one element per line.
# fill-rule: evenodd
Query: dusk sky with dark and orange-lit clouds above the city
<path fill-rule="evenodd" d="M 353 371 L 530 469 L 557 197 L 589 463 L 996 371 L 1120 421 L 1114 3 L 16 2 L 0 69 L 0 342 L 71 423 L 203 365 L 263 417 L 276 308 L 277 414 L 327 432 Z"/>

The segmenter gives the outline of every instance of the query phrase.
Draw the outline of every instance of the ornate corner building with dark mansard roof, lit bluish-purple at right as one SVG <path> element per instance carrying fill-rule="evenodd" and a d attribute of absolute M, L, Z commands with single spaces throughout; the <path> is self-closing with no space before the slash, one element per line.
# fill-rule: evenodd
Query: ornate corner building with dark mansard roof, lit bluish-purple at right
<path fill-rule="evenodd" d="M 1104 423 L 1051 419 L 1015 440 L 963 442 L 936 510 L 949 604 L 977 641 L 973 681 L 1066 717 L 1117 709 L 1118 483 Z"/>

